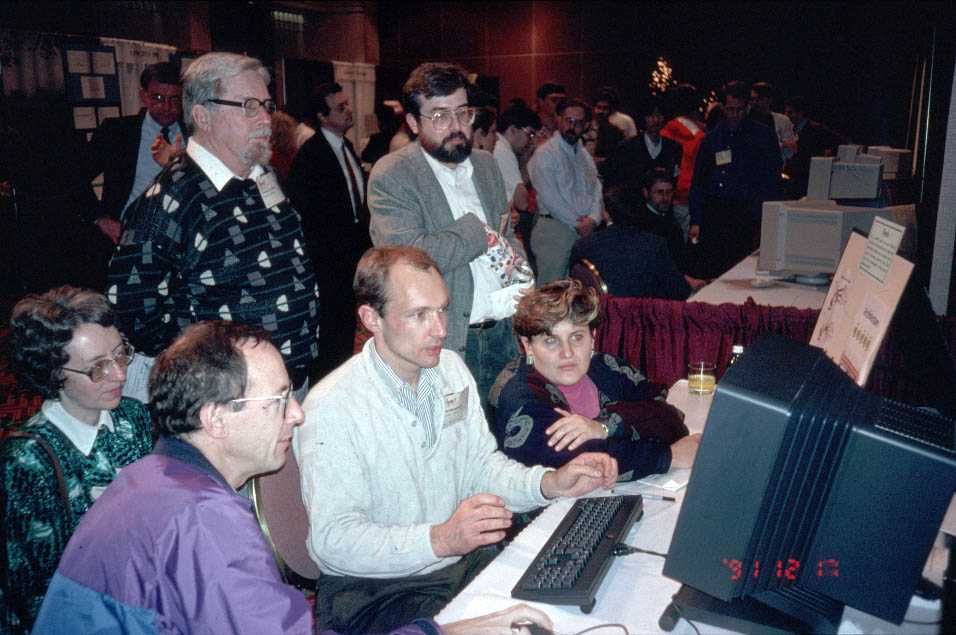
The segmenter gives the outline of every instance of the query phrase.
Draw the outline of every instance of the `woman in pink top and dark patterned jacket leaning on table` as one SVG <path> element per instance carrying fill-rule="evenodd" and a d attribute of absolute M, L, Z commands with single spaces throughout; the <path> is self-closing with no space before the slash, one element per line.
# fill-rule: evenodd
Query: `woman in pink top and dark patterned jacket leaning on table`
<path fill-rule="evenodd" d="M 594 289 L 558 280 L 522 296 L 513 318 L 525 361 L 498 398 L 494 432 L 505 454 L 560 467 L 581 452 L 617 459 L 620 480 L 690 467 L 687 436 L 667 391 L 611 355 L 594 352 Z"/>

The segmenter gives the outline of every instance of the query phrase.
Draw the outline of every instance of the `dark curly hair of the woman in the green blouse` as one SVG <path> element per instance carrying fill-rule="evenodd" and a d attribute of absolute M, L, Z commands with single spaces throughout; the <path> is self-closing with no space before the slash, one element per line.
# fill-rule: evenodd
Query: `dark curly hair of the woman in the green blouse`
<path fill-rule="evenodd" d="M 101 294 L 70 286 L 30 294 L 17 302 L 10 315 L 10 361 L 25 384 L 46 399 L 63 388 L 67 345 L 81 324 L 115 324 L 113 307 Z"/>

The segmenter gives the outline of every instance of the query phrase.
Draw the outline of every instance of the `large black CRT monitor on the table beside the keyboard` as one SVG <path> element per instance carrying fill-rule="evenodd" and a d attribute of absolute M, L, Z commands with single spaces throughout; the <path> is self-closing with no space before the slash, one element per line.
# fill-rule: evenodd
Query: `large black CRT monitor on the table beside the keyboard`
<path fill-rule="evenodd" d="M 664 574 L 808 630 L 844 606 L 898 624 L 956 487 L 953 435 L 766 337 L 717 386 Z"/>

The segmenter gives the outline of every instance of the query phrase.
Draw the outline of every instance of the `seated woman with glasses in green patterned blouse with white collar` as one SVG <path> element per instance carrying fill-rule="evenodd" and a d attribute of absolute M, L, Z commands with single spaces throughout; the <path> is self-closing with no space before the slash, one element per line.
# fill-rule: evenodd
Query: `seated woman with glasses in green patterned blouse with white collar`
<path fill-rule="evenodd" d="M 122 398 L 133 349 L 106 298 L 59 287 L 10 319 L 11 365 L 43 406 L 0 445 L 4 626 L 28 631 L 83 514 L 120 468 L 149 453 L 146 407 Z"/>

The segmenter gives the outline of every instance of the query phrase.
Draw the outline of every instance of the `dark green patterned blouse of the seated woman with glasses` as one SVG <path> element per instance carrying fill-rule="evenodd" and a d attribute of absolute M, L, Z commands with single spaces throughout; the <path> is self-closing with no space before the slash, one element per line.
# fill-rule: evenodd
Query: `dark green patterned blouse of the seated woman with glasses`
<path fill-rule="evenodd" d="M 53 448 L 63 468 L 72 516 L 63 508 L 49 456 L 36 441 L 10 439 L 0 445 L 10 565 L 3 599 L 6 610 L 15 611 L 15 619 L 27 628 L 36 618 L 66 543 L 94 496 L 113 481 L 119 468 L 147 455 L 153 447 L 146 406 L 123 399 L 111 414 L 114 431 L 101 428 L 88 457 L 42 412 L 23 428 Z M 10 615 L 4 617 L 11 619 Z"/>

